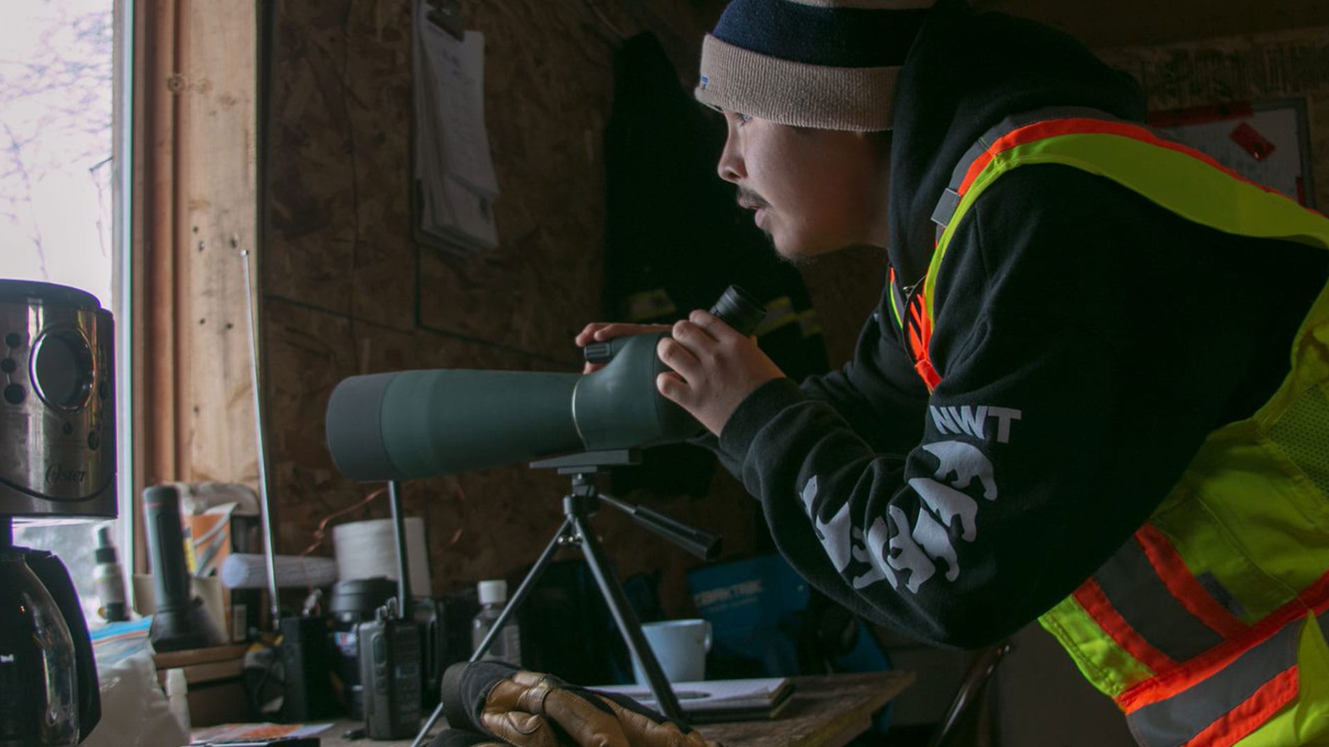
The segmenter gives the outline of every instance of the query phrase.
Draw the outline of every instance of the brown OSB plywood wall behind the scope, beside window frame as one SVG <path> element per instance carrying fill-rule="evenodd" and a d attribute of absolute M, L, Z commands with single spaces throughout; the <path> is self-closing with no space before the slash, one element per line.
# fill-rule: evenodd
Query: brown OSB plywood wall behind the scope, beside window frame
<path fill-rule="evenodd" d="M 409 0 L 271 5 L 262 257 L 266 401 L 278 545 L 365 492 L 332 467 L 323 412 L 346 376 L 407 368 L 573 371 L 573 335 L 602 319 L 602 134 L 619 35 L 654 31 L 695 60 L 714 3 L 464 1 L 485 35 L 486 120 L 501 246 L 469 258 L 411 239 Z M 436 591 L 514 578 L 561 521 L 567 480 L 525 467 L 409 482 Z M 653 506 L 752 546 L 754 501 L 728 476 L 706 500 Z M 383 501 L 364 516 L 385 516 Z M 619 514 L 595 518 L 622 574 L 663 568 L 667 611 L 686 613 L 699 562 Z"/>

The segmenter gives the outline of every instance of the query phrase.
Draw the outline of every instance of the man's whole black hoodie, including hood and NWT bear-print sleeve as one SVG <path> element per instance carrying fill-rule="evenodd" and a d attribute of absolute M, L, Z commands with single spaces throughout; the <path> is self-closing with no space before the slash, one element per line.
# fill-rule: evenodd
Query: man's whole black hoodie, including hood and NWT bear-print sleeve
<path fill-rule="evenodd" d="M 890 263 L 926 270 L 933 207 L 1009 114 L 1143 117 L 1078 43 L 941 0 L 896 98 Z M 1100 177 L 1017 169 L 960 225 L 937 278 L 929 395 L 889 300 L 843 371 L 771 381 L 719 439 L 780 550 L 869 619 L 942 645 L 1009 635 L 1138 529 L 1205 435 L 1286 372 L 1322 253 L 1189 223 Z"/>

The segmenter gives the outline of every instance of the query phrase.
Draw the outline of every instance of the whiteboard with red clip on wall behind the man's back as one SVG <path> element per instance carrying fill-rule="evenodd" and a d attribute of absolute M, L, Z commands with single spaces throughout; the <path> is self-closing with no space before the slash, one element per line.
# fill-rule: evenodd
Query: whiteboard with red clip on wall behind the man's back
<path fill-rule="evenodd" d="M 1305 100 L 1154 112 L 1150 124 L 1237 174 L 1314 207 Z"/>

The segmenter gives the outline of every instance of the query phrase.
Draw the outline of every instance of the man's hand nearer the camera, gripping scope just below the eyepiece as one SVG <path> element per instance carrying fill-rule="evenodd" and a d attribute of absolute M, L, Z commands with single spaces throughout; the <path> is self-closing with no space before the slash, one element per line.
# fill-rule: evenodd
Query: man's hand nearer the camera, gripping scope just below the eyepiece
<path fill-rule="evenodd" d="M 784 377 L 755 342 L 707 311 L 675 322 L 671 334 L 655 351 L 674 371 L 661 374 L 655 388 L 716 436 L 748 395 Z"/>

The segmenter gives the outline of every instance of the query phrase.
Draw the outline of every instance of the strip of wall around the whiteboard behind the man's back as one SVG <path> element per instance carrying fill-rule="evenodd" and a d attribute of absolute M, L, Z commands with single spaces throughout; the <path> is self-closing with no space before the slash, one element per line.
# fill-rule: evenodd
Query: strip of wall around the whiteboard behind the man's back
<path fill-rule="evenodd" d="M 1329 27 L 1112 49 L 1100 56 L 1140 81 L 1151 110 L 1304 98 L 1316 206 L 1329 206 Z"/>

